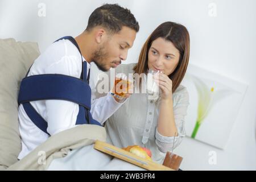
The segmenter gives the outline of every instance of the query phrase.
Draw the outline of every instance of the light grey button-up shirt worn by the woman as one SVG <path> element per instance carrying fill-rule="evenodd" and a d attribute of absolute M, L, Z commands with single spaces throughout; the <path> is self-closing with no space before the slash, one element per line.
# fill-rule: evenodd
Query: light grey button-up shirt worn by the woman
<path fill-rule="evenodd" d="M 119 65 L 115 73 L 134 73 L 135 64 Z M 146 81 L 146 79 L 143 79 Z M 96 94 L 97 95 L 97 94 Z M 150 100 L 146 93 L 132 94 L 106 122 L 107 141 L 117 147 L 137 144 L 149 148 L 152 159 L 163 163 L 165 153 L 179 146 L 185 137 L 185 115 L 189 105 L 187 89 L 180 85 L 172 94 L 178 137 L 166 137 L 158 132 L 160 98 Z"/>

